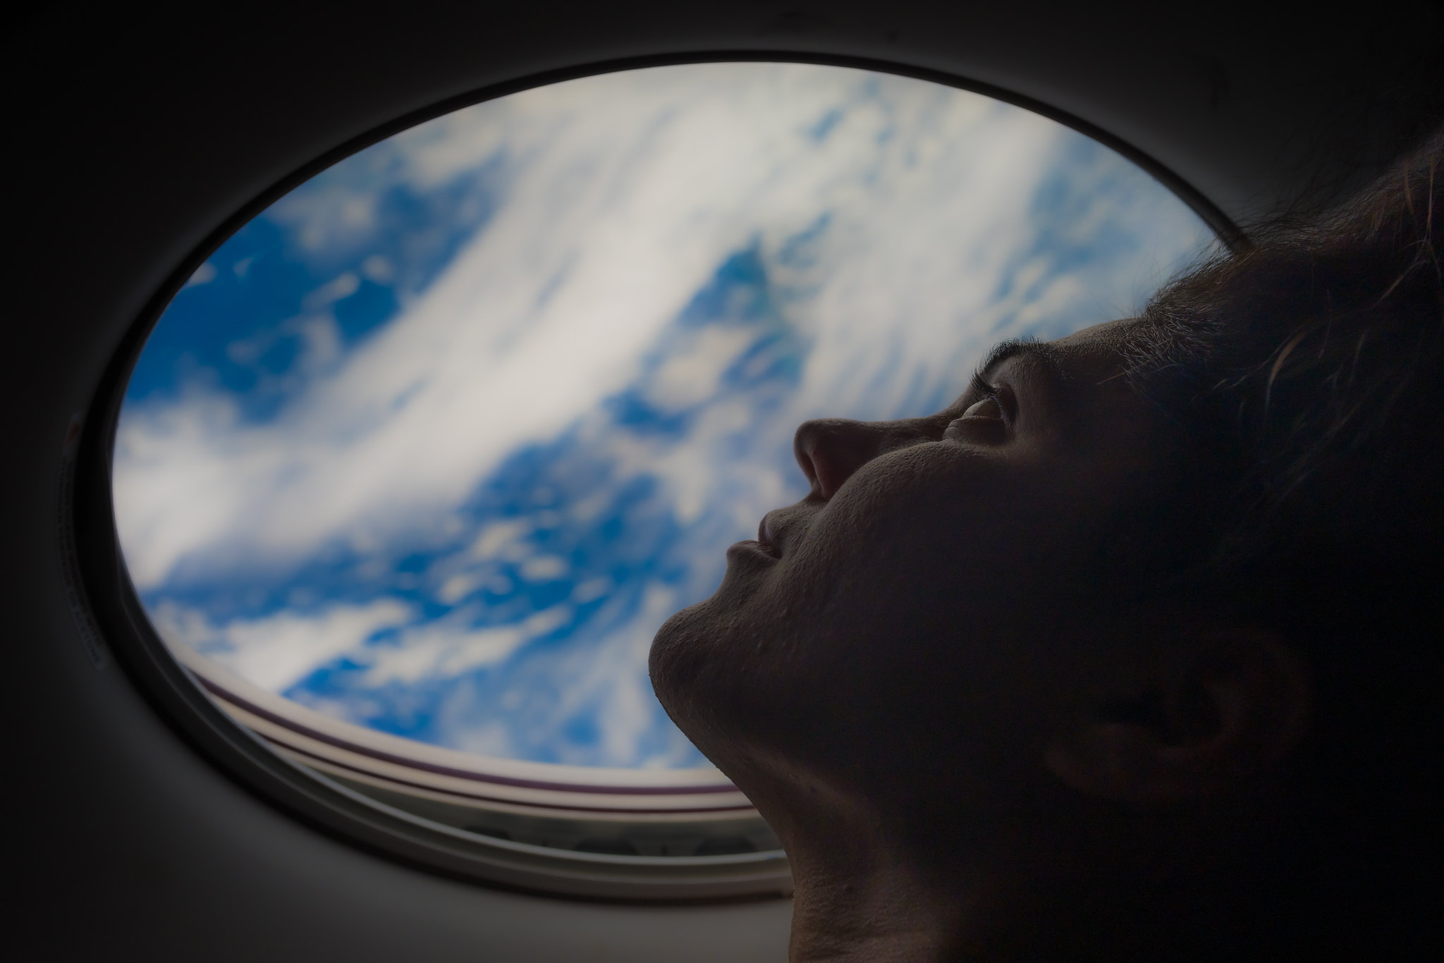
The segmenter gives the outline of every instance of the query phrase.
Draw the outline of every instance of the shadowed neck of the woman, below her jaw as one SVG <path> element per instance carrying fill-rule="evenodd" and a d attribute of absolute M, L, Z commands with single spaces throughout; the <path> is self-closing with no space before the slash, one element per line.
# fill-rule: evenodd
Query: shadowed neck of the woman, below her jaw
<path fill-rule="evenodd" d="M 804 820 L 765 813 L 793 865 L 791 963 L 1183 960 L 1217 940 L 1191 924 L 1230 925 L 1217 902 L 1206 904 L 1216 915 L 1194 918 L 1207 888 L 1070 872 L 1092 863 L 1084 852 L 1006 826 L 965 847 L 956 835 L 920 842 L 807 801 Z"/>

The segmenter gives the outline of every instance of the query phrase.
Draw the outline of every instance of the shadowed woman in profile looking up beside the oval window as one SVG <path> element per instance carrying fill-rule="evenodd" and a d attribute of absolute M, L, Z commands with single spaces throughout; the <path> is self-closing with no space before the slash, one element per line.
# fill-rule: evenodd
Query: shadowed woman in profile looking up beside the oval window
<path fill-rule="evenodd" d="M 660 629 L 794 960 L 1438 943 L 1444 136 L 946 410 L 816 420 Z"/>

